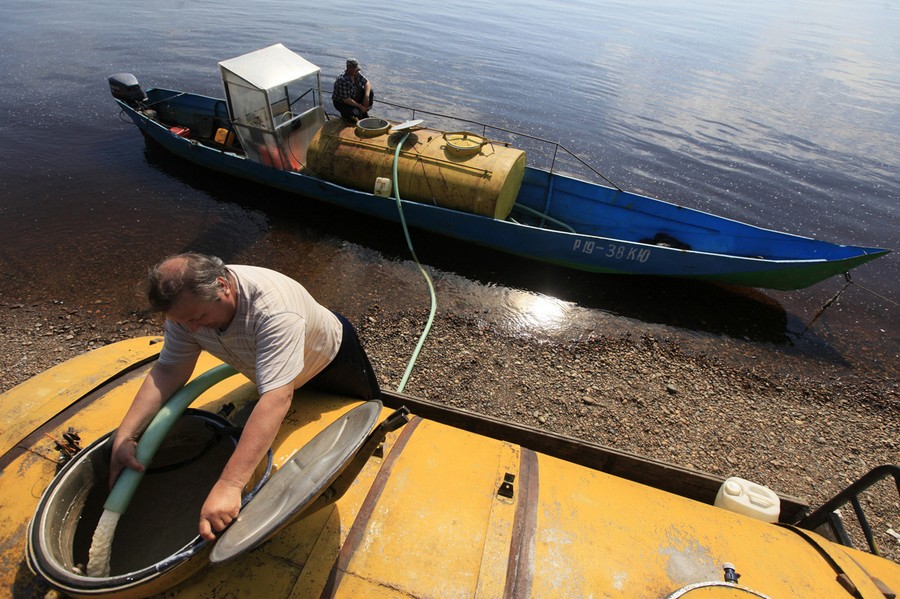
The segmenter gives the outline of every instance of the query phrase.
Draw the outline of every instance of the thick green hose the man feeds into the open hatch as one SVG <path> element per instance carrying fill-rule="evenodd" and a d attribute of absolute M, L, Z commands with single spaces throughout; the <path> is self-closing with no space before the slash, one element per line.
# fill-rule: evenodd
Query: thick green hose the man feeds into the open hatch
<path fill-rule="evenodd" d="M 190 383 L 178 390 L 170 399 L 160 408 L 156 416 L 150 422 L 150 426 L 141 435 L 138 442 L 135 457 L 145 467 L 150 464 L 156 450 L 162 444 L 163 439 L 172 429 L 175 421 L 181 416 L 182 412 L 193 402 L 201 393 L 219 383 L 228 377 L 237 374 L 237 370 L 228 364 L 221 364 L 207 370 Z M 144 477 L 143 472 L 125 468 L 122 474 L 113 485 L 113 489 L 103 504 L 103 508 L 117 514 L 124 514 L 131 503 L 131 498 L 137 489 L 138 484 Z"/>

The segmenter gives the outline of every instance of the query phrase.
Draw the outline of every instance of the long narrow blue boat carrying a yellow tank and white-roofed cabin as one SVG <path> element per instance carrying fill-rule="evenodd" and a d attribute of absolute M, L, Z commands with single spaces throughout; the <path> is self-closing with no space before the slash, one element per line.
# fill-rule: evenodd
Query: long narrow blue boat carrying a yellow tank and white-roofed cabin
<path fill-rule="evenodd" d="M 431 113 L 345 121 L 325 111 L 320 69 L 281 44 L 223 61 L 219 70 L 225 99 L 144 92 L 129 73 L 111 76 L 109 85 L 145 136 L 198 166 L 577 270 L 792 290 L 890 252 L 772 231 L 608 180 L 527 166 L 524 151 L 486 132 L 430 129 L 415 118 Z"/>

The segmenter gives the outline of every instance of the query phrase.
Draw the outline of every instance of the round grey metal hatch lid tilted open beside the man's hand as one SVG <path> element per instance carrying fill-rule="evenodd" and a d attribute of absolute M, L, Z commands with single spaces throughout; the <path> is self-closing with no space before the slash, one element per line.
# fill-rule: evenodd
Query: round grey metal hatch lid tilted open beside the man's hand
<path fill-rule="evenodd" d="M 268 540 L 313 503 L 347 467 L 375 427 L 381 402 L 359 405 L 300 448 L 241 509 L 209 561 L 230 561 Z"/>

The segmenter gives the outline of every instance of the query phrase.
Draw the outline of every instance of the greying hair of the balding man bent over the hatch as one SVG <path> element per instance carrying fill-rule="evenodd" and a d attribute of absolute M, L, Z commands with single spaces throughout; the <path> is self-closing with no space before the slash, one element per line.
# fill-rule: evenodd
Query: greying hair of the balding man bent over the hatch
<path fill-rule="evenodd" d="M 169 256 L 147 271 L 147 299 L 156 312 L 168 312 L 183 291 L 214 300 L 219 277 L 229 280 L 225 263 L 217 256 L 184 253 Z"/>

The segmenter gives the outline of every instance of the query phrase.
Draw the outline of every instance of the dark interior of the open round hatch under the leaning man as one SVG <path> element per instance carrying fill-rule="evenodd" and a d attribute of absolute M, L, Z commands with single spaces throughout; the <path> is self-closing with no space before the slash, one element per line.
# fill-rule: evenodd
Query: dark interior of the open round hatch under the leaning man
<path fill-rule="evenodd" d="M 116 527 L 110 576 L 152 566 L 197 536 L 203 501 L 234 451 L 235 440 L 222 433 L 225 425 L 212 414 L 188 411 L 173 426 Z M 61 473 L 39 519 L 37 550 L 51 570 L 84 572 L 109 492 L 107 443 L 84 453 Z"/>

